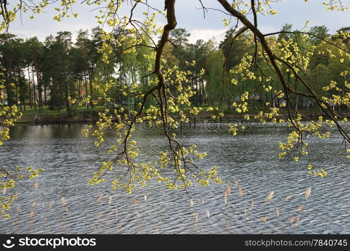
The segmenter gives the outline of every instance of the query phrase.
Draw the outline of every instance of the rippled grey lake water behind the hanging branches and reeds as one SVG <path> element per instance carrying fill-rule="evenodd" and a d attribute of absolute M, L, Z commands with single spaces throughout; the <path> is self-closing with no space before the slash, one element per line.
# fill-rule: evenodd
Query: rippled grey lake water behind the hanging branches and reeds
<path fill-rule="evenodd" d="M 12 139 L 0 147 L 1 165 L 33 166 L 45 172 L 35 179 L 37 190 L 34 180 L 24 183 L 30 192 L 16 187 L 18 199 L 12 204 L 11 218 L 0 220 L 1 233 L 350 233 L 349 160 L 336 133 L 327 140 L 309 140 L 314 167 L 329 173 L 322 179 L 307 174 L 304 160 L 278 159 L 278 142 L 287 136 L 284 128 L 250 127 L 236 137 L 189 130 L 178 138 L 206 152 L 198 165 L 217 166 L 220 178 L 229 182 L 232 193 L 226 204 L 226 185 L 194 185 L 188 196 L 182 189 L 169 191 L 156 182 L 132 194 L 112 191 L 111 179 L 91 187 L 88 179 L 111 155 L 106 153 L 108 144 L 96 148 L 92 139 L 82 137 L 87 125 L 16 126 Z M 167 147 L 161 132 L 137 131 L 134 136 L 142 161 L 155 160 L 155 153 Z M 113 137 L 107 137 L 106 143 L 112 142 Z M 305 200 L 309 187 L 312 192 Z M 271 191 L 274 196 L 265 204 Z M 285 201 L 288 195 L 291 198 Z M 297 211 L 300 205 L 304 207 Z"/>

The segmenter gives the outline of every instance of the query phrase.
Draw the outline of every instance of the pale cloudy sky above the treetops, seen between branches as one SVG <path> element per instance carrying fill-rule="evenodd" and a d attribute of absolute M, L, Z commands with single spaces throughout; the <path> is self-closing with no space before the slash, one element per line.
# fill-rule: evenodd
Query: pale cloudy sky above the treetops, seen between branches
<path fill-rule="evenodd" d="M 288 23 L 293 25 L 293 29 L 302 29 L 307 20 L 310 21 L 309 26 L 325 25 L 330 33 L 334 33 L 341 27 L 350 26 L 350 11 L 331 12 L 327 11 L 322 5 L 325 0 L 284 0 L 283 2 L 273 4 L 272 7 L 278 11 L 277 16 L 258 17 L 258 27 L 263 33 L 280 31 L 281 27 Z M 54 6 L 47 8 L 46 13 L 36 15 L 33 20 L 29 19 L 31 14 L 22 14 L 22 20 L 17 20 L 11 24 L 10 33 L 21 38 L 30 38 L 37 36 L 40 41 L 44 41 L 45 37 L 52 34 L 55 35 L 59 31 L 70 31 L 73 40 L 77 31 L 91 30 L 96 27 L 97 23 L 94 18 L 96 11 L 91 6 L 80 4 L 82 1 L 77 0 L 77 4 L 73 6 L 73 13 L 79 13 L 78 18 L 69 18 L 64 21 L 57 22 L 52 18 L 56 14 L 53 10 Z M 14 3 L 14 2 L 12 2 Z M 154 5 L 158 9 L 163 9 L 163 0 L 148 0 L 150 5 Z M 202 0 L 207 8 L 223 10 L 214 0 Z M 350 5 L 350 0 L 343 0 L 343 3 Z M 130 7 L 130 6 L 129 6 Z M 203 11 L 200 10 L 201 5 L 198 0 L 177 0 L 175 4 L 175 12 L 177 17 L 177 28 L 186 28 L 191 34 L 190 42 L 197 39 L 208 40 L 212 37 L 217 42 L 221 41 L 227 28 L 223 27 L 222 19 L 226 17 L 223 13 L 209 10 L 203 17 Z M 141 7 L 136 13 L 137 19 L 142 19 L 142 12 L 147 9 Z M 128 14 L 127 9 L 122 9 L 121 14 Z M 164 25 L 165 20 L 159 16 L 156 21 L 159 25 Z"/>

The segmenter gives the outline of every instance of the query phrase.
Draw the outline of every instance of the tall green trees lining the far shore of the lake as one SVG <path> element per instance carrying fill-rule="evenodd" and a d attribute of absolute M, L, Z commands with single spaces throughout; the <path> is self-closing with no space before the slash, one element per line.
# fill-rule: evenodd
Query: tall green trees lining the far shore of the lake
<path fill-rule="evenodd" d="M 302 36 L 299 31 L 292 29 L 292 25 L 286 24 L 282 31 L 288 33 L 271 36 L 270 46 L 278 47 L 282 40 L 298 42 L 299 36 Z M 332 40 L 335 44 L 346 43 L 350 47 L 350 39 L 341 38 L 341 33 L 348 31 L 350 27 L 341 28 L 336 34 L 330 35 L 325 26 L 314 26 L 308 32 L 316 36 L 309 36 L 306 42 L 300 40 L 303 44 L 299 46 L 305 52 L 327 51 L 310 56 L 305 74 L 305 77 L 313 79 L 312 88 L 323 95 L 329 96 L 331 91 L 323 90 L 322 87 L 329 85 L 331 80 L 343 81 L 340 73 L 350 70 L 350 59 L 342 59 L 344 62 L 339 64 L 339 58 L 329 56 L 329 50 L 334 50 L 334 54 L 338 53 L 336 47 L 330 48 L 324 40 Z M 65 108 L 70 113 L 76 104 L 69 97 L 79 99 L 90 96 L 91 100 L 86 103 L 87 108 L 96 104 L 92 100 L 98 100 L 99 104 L 106 107 L 136 107 L 140 100 L 128 98 L 123 92 L 135 85 L 140 89 L 152 85 L 152 79 L 156 78 L 150 75 L 154 59 L 147 56 L 151 50 L 148 47 L 122 53 L 128 48 L 128 34 L 123 36 L 127 37 L 123 44 L 112 44 L 108 48 L 109 63 L 106 64 L 99 53 L 106 50 L 102 48 L 99 28 L 93 28 L 90 33 L 80 30 L 75 43 L 72 42 L 72 34 L 66 31 L 58 32 L 56 36 L 50 35 L 45 41 L 39 41 L 37 37 L 22 39 L 12 34 L 0 35 L 0 67 L 5 78 L 0 103 L 16 104 L 21 110 L 34 107 L 38 111 L 47 105 L 52 110 L 60 111 Z M 242 58 L 254 53 L 254 46 L 246 43 L 250 39 L 249 34 L 243 34 L 233 44 L 232 30 L 228 30 L 223 41 L 218 44 L 214 40 L 189 43 L 189 36 L 183 28 L 173 30 L 171 42 L 166 44 L 163 56 L 166 67 L 178 65 L 180 69 L 191 71 L 186 84 L 195 91 L 191 97 L 194 106 L 217 105 L 222 100 L 226 108 L 232 109 L 232 103 L 246 91 L 261 106 L 266 105 L 266 100 L 272 99 L 272 91 L 260 92 L 259 89 L 254 89 L 257 86 L 254 81 L 257 80 L 240 78 L 232 70 L 242 63 Z M 227 60 L 223 70 L 225 56 Z M 262 67 L 267 68 L 264 65 Z M 256 68 L 250 70 L 258 71 Z M 285 71 L 284 74 L 286 78 L 292 78 L 290 72 Z M 226 75 L 224 83 L 223 75 Z M 275 80 L 276 85 L 279 84 L 272 71 L 270 77 Z M 232 78 L 241 83 L 231 81 Z M 102 99 L 98 91 L 106 83 L 111 83 L 108 100 Z M 303 97 L 292 98 L 295 98 L 296 106 L 305 105 Z M 152 99 L 148 100 L 147 105 L 152 102 Z M 309 106 L 309 103 L 306 102 L 306 105 Z"/>

